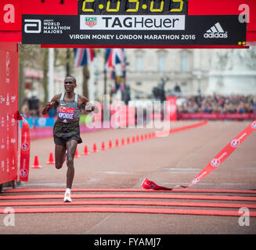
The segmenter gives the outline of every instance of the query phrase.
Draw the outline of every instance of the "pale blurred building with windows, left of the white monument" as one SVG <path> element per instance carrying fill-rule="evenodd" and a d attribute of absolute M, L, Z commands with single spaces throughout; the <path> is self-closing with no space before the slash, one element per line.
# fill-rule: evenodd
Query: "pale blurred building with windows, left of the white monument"
<path fill-rule="evenodd" d="M 153 87 L 164 81 L 168 95 L 178 89 L 184 95 L 204 93 L 209 81 L 212 51 L 209 49 L 127 48 L 126 84 L 132 98 L 153 96 Z M 103 95 L 103 57 L 96 66 L 97 95 Z M 101 69 L 101 70 L 100 70 Z M 107 93 L 114 86 L 107 73 Z"/>

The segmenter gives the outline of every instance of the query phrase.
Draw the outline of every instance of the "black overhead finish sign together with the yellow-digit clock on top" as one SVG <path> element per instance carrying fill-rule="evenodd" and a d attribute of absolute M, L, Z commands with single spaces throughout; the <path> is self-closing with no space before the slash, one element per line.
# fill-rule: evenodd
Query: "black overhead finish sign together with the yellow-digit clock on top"
<path fill-rule="evenodd" d="M 79 0 L 78 15 L 23 15 L 22 41 L 98 48 L 246 44 L 247 23 L 237 15 L 191 16 L 188 8 L 188 0 Z"/>

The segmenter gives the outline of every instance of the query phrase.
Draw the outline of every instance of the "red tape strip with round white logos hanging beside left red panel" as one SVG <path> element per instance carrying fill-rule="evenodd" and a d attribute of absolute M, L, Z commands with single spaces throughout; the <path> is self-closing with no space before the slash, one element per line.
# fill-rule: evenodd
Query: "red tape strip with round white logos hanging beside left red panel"
<path fill-rule="evenodd" d="M 22 117 L 23 127 L 21 130 L 21 147 L 20 147 L 20 173 L 19 180 L 27 181 L 29 174 L 29 161 L 30 161 L 30 150 L 31 150 L 31 137 L 29 124 L 27 120 Z"/>

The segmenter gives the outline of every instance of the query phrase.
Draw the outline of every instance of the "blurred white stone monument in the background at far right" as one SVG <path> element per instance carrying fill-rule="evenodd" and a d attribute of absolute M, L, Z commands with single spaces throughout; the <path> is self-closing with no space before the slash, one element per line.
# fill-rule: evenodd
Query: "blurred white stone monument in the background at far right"
<path fill-rule="evenodd" d="M 214 50 L 206 94 L 256 95 L 256 47 Z"/>

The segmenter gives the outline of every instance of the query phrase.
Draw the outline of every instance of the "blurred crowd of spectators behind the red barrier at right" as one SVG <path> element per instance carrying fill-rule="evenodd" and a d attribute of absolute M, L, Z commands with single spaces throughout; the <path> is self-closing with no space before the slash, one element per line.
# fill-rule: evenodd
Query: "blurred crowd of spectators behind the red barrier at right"
<path fill-rule="evenodd" d="M 177 96 L 178 113 L 255 113 L 256 95 Z"/>

